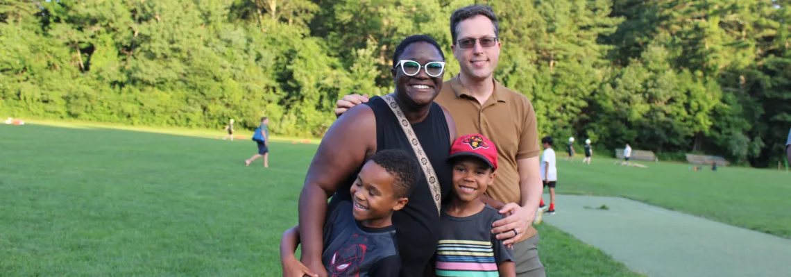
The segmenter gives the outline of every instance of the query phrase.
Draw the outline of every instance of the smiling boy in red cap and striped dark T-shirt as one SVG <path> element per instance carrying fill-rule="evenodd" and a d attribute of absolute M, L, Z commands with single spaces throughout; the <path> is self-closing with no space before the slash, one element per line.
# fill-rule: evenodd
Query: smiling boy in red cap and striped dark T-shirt
<path fill-rule="evenodd" d="M 453 196 L 440 217 L 437 276 L 516 276 L 513 249 L 491 233 L 492 223 L 505 216 L 480 199 L 494 181 L 497 148 L 483 135 L 465 135 L 453 142 L 448 160 Z"/>

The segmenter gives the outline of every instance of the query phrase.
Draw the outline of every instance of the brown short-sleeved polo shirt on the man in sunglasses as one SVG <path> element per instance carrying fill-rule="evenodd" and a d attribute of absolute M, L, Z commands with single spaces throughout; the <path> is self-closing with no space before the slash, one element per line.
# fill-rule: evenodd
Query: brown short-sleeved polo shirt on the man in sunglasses
<path fill-rule="evenodd" d="M 434 101 L 450 112 L 458 135 L 480 133 L 497 146 L 497 177 L 494 184 L 486 188 L 486 195 L 502 203 L 521 205 L 517 160 L 537 157 L 541 152 L 536 112 L 528 97 L 494 81 L 494 93 L 482 105 L 467 92 L 456 75 L 443 83 Z M 531 227 L 526 237 L 535 233 Z"/>

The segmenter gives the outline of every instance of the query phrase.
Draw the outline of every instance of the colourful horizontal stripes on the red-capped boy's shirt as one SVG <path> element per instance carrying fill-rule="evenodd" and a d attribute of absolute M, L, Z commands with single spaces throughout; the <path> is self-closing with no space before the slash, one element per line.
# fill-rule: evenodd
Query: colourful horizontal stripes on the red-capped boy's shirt
<path fill-rule="evenodd" d="M 499 276 L 491 241 L 440 240 L 438 276 Z"/>

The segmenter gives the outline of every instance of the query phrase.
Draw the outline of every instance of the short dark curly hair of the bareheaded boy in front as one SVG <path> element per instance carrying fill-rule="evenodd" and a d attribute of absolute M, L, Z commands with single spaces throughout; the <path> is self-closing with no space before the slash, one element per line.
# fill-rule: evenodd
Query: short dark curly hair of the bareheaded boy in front
<path fill-rule="evenodd" d="M 407 154 L 406 151 L 380 150 L 369 161 L 373 161 L 392 174 L 395 179 L 393 180 L 395 198 L 408 197 L 417 187 L 420 165 L 418 165 L 418 159 Z"/>

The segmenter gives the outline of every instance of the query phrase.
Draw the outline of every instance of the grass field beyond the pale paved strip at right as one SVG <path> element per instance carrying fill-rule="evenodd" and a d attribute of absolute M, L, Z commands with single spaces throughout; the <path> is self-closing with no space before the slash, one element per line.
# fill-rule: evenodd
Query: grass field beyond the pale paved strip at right
<path fill-rule="evenodd" d="M 563 157 L 558 152 L 558 193 L 626 197 L 791 238 L 791 173 L 740 167 L 712 172 L 711 165 L 695 172 L 683 163 L 634 161 L 648 166 L 642 169 L 596 156 L 582 165 L 581 155 L 573 162 Z"/>

